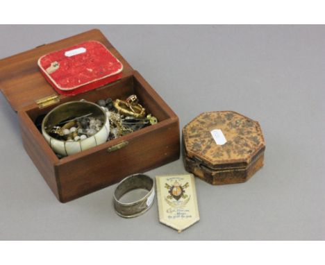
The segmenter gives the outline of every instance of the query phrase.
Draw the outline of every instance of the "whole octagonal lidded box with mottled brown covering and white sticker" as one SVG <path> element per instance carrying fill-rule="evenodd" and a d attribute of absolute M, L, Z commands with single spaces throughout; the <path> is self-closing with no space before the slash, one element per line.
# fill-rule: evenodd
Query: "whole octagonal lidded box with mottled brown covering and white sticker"
<path fill-rule="evenodd" d="M 264 152 L 260 124 L 237 112 L 203 112 L 183 128 L 185 169 L 213 185 L 245 182 Z"/>

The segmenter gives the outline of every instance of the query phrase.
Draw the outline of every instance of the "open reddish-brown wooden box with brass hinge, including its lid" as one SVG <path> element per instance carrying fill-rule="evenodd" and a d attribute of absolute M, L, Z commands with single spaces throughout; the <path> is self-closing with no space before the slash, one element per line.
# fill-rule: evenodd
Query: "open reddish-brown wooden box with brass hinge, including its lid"
<path fill-rule="evenodd" d="M 101 42 L 122 62 L 122 78 L 76 96 L 56 94 L 40 73 L 38 58 L 88 40 Z M 178 117 L 97 29 L 0 60 L 0 88 L 18 112 L 26 152 L 60 202 L 179 158 Z M 108 97 L 126 99 L 131 94 L 138 96 L 148 112 L 158 118 L 158 123 L 62 159 L 58 159 L 34 123 L 36 117 L 60 103 L 81 99 L 95 102 Z"/>

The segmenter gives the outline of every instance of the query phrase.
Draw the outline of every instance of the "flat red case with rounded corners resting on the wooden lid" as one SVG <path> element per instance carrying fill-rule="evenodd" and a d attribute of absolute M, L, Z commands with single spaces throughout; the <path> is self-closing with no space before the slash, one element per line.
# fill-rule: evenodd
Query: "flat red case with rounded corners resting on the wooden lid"
<path fill-rule="evenodd" d="M 84 48 L 85 52 L 68 57 L 67 51 Z M 59 67 L 51 74 L 53 62 Z M 100 42 L 89 41 L 42 56 L 38 65 L 42 74 L 59 94 L 76 95 L 111 83 L 122 76 L 123 65 Z"/>

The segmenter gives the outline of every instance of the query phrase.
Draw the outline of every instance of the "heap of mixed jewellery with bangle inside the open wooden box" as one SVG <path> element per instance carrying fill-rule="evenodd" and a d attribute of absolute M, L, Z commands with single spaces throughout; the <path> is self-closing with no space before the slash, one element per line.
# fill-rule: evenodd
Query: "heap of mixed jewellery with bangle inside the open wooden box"
<path fill-rule="evenodd" d="M 85 100 L 63 103 L 35 120 L 35 125 L 59 158 L 92 147 L 90 141 L 83 140 L 94 137 L 101 129 L 103 132 L 93 141 L 96 145 L 156 123 L 158 119 L 147 113 L 135 94 L 131 94 L 125 100 L 113 101 L 108 98 L 99 99 L 96 103 Z M 103 139 L 98 141 L 98 137 Z M 73 148 L 67 148 L 65 144 Z"/>

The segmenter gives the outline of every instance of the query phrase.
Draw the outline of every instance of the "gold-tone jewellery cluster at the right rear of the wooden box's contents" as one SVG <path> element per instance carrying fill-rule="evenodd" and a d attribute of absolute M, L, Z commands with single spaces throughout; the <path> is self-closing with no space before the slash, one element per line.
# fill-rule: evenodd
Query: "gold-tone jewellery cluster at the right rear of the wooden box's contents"
<path fill-rule="evenodd" d="M 138 98 L 135 95 L 129 96 L 126 101 L 116 99 L 113 104 L 121 114 L 130 115 L 135 118 L 143 118 L 146 115 L 146 109 L 138 103 Z"/>

